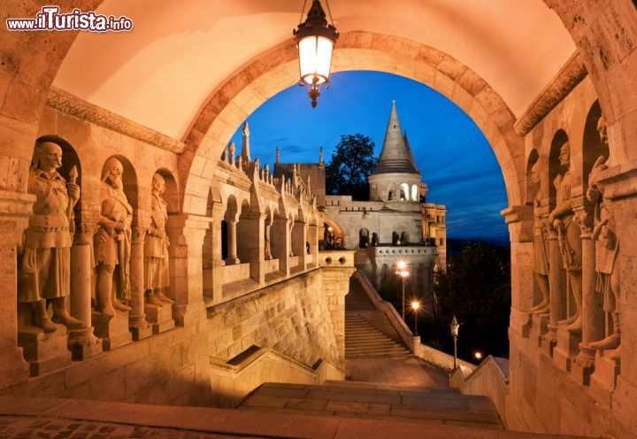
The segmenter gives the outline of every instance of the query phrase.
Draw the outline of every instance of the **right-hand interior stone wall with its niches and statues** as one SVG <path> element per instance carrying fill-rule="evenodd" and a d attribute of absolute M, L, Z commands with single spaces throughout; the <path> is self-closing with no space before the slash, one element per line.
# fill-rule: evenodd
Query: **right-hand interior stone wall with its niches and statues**
<path fill-rule="evenodd" d="M 533 250 L 523 258 L 511 248 L 533 273 L 512 271 L 512 284 L 529 293 L 514 296 L 511 310 L 526 321 L 512 320 L 509 331 L 512 429 L 637 433 L 627 397 L 637 389 L 626 323 L 634 312 L 624 291 L 635 274 L 622 270 L 634 247 L 636 186 L 613 166 L 613 140 L 588 77 L 526 135 L 533 220 L 517 244 L 533 240 Z"/>

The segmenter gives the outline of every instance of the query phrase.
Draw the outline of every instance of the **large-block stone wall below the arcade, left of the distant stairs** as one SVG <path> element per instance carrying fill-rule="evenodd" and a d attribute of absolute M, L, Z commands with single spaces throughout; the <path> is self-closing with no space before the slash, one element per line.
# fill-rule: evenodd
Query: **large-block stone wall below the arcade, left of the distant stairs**
<path fill-rule="evenodd" d="M 208 350 L 227 360 L 256 344 L 307 366 L 318 359 L 339 365 L 327 297 L 323 274 L 315 270 L 214 306 L 205 323 Z"/>

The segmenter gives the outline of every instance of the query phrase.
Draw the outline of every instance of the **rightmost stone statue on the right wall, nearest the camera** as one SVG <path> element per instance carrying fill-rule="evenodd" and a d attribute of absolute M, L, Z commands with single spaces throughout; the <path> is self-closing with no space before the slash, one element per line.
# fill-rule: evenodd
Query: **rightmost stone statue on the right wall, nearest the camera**
<path fill-rule="evenodd" d="M 603 143 L 607 142 L 605 120 L 599 119 L 597 130 Z M 595 203 L 595 229 L 591 239 L 595 245 L 595 291 L 603 295 L 603 311 L 612 320 L 612 332 L 598 342 L 590 343 L 596 350 L 614 350 L 610 358 L 618 361 L 621 354 L 621 333 L 619 315 L 620 280 L 617 260 L 619 240 L 616 234 L 617 224 L 610 211 L 610 205 L 603 198 L 604 188 L 599 182 L 600 173 L 607 169 L 603 157 L 597 158 L 588 177 L 587 199 Z"/>

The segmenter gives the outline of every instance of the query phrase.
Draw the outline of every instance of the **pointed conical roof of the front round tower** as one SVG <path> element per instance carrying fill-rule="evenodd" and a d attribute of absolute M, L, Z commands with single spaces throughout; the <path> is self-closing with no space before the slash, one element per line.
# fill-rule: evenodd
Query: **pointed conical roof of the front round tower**
<path fill-rule="evenodd" d="M 395 100 L 392 100 L 392 111 L 389 115 L 388 128 L 385 132 L 383 149 L 380 151 L 379 162 L 372 175 L 379 173 L 418 173 L 411 155 L 411 148 L 403 137 L 398 113 L 395 110 Z"/>

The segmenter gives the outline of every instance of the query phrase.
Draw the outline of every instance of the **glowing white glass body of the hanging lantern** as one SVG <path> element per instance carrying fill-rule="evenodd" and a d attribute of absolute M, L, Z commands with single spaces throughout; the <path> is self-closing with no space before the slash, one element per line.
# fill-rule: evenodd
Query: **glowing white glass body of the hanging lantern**
<path fill-rule="evenodd" d="M 323 36 L 307 36 L 298 42 L 301 79 L 308 85 L 323 84 L 329 78 L 334 42 Z"/>

